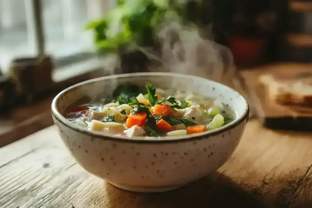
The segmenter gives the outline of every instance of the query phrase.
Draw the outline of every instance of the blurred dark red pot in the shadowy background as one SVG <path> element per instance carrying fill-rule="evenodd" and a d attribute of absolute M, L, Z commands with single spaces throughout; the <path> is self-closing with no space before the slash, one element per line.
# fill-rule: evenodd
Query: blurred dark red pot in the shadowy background
<path fill-rule="evenodd" d="M 266 40 L 260 37 L 230 36 L 229 47 L 236 65 L 258 65 L 263 60 Z"/>

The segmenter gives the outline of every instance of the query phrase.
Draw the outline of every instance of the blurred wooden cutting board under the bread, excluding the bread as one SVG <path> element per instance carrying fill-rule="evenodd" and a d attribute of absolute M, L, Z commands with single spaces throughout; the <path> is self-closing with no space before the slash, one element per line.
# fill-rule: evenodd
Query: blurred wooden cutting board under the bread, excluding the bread
<path fill-rule="evenodd" d="M 300 73 L 312 73 L 312 64 L 280 63 L 243 70 L 241 75 L 249 91 L 258 117 L 267 128 L 312 132 L 312 108 L 282 105 L 272 99 L 268 86 L 261 83 L 263 75 L 296 77 Z"/>

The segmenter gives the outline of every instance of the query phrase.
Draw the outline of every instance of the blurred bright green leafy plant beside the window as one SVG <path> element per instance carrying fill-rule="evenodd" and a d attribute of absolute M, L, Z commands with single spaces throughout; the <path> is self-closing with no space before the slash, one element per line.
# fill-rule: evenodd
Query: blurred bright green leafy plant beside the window
<path fill-rule="evenodd" d="M 177 16 L 188 18 L 188 2 L 198 7 L 205 0 L 182 2 L 177 0 L 119 0 L 104 19 L 90 22 L 86 29 L 94 30 L 95 44 L 100 52 L 114 51 L 120 46 L 153 46 L 155 29 L 166 19 Z M 194 11 L 193 11 L 194 12 Z M 198 18 L 189 19 L 200 24 Z M 119 27 L 119 28 L 116 28 Z"/>

